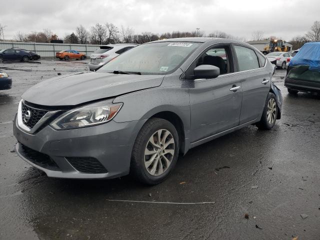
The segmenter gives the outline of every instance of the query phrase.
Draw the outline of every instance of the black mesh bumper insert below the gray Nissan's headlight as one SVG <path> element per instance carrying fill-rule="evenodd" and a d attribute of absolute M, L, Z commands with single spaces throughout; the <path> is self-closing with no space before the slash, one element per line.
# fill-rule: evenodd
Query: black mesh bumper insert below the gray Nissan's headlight
<path fill-rule="evenodd" d="M 104 166 L 93 157 L 66 157 L 68 162 L 78 171 L 85 173 L 106 173 Z"/>

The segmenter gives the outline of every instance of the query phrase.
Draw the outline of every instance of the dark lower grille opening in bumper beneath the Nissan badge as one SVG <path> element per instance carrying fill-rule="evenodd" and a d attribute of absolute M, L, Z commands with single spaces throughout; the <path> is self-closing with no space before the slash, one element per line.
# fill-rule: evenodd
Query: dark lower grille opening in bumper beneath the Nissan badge
<path fill-rule="evenodd" d="M 23 144 L 21 144 L 21 146 L 24 154 L 27 156 L 28 160 L 31 161 L 32 163 L 49 170 L 53 170 L 53 171 L 60 170 L 58 165 L 47 154 L 33 150 Z"/>

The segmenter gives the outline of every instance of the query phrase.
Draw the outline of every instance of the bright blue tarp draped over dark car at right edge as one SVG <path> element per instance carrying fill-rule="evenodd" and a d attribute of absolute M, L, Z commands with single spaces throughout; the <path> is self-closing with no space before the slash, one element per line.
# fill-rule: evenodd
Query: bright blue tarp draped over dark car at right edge
<path fill-rule="evenodd" d="M 309 70 L 320 71 L 320 41 L 305 43 L 289 65 L 308 65 Z"/>

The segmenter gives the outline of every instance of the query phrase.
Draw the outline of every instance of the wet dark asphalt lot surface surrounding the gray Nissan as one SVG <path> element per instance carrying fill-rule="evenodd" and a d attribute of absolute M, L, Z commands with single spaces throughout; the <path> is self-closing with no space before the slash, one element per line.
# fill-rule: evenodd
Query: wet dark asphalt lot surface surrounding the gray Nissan
<path fill-rule="evenodd" d="M 0 91 L 0 239 L 320 239 L 320 96 L 288 95 L 285 70 L 273 77 L 283 107 L 272 130 L 248 126 L 195 147 L 164 182 L 143 186 L 48 178 L 12 151 L 23 91 L 87 69 L 40 62 L 0 65 L 13 79 Z"/>

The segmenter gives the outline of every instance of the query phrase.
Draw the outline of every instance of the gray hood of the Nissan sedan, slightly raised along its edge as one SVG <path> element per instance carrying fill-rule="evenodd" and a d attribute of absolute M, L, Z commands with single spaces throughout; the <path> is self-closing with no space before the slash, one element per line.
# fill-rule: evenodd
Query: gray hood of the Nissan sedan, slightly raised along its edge
<path fill-rule="evenodd" d="M 76 105 L 159 86 L 163 75 L 78 72 L 44 80 L 26 90 L 22 98 L 46 106 Z"/>

